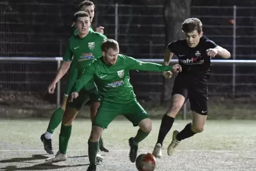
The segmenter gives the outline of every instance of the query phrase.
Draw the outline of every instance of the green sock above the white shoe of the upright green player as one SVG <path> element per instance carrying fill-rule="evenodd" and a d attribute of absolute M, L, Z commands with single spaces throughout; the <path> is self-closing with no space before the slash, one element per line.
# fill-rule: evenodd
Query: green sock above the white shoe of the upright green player
<path fill-rule="evenodd" d="M 67 144 L 69 143 L 70 135 L 71 135 L 72 125 L 65 126 L 61 125 L 61 133 L 59 133 L 59 152 L 64 155 L 67 152 Z"/>

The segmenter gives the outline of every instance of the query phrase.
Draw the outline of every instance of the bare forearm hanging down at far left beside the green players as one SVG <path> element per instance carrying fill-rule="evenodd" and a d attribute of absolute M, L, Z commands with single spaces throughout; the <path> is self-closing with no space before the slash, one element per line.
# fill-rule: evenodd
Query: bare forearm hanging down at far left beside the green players
<path fill-rule="evenodd" d="M 54 93 L 54 89 L 56 88 L 56 83 L 61 80 L 61 78 L 66 74 L 67 70 L 70 68 L 70 61 L 64 61 L 61 64 L 61 67 L 59 67 L 57 75 L 55 76 L 55 79 L 53 80 L 52 83 L 50 83 L 48 87 L 48 92 L 50 94 Z"/>

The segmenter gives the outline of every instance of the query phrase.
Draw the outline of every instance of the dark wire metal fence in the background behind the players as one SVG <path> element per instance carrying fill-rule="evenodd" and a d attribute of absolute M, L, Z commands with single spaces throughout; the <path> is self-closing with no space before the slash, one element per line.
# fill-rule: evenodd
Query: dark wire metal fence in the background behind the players
<path fill-rule="evenodd" d="M 10 8 L 10 6 L 12 8 Z M 27 8 L 26 12 L 19 11 Z M 232 59 L 255 59 L 256 7 L 192 6 L 191 16 L 203 22 L 204 35 L 232 53 Z M 56 4 L 0 2 L 1 56 L 62 56 L 71 35 L 74 10 Z M 106 36 L 120 42 L 121 51 L 135 58 L 163 58 L 165 32 L 163 6 L 97 5 L 96 21 Z M 54 25 L 55 24 L 55 25 Z M 30 27 L 24 27 L 29 25 Z M 70 29 L 63 29 L 70 28 Z M 55 62 L 0 63 L 2 92 L 44 91 L 56 73 Z M 254 66 L 213 66 L 210 95 L 255 95 Z M 144 81 L 139 78 L 143 75 Z M 132 73 L 141 99 L 158 99 L 163 89 L 159 73 Z M 147 85 L 147 88 L 145 87 Z M 152 96 L 153 98 L 149 97 Z"/>

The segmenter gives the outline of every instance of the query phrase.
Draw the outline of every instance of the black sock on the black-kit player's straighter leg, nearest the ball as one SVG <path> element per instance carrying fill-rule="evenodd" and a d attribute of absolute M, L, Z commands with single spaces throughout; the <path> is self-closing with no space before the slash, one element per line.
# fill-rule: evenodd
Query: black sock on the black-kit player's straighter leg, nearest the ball
<path fill-rule="evenodd" d="M 172 128 L 173 122 L 174 122 L 173 117 L 170 117 L 168 115 L 163 116 L 161 126 L 160 126 L 160 130 L 159 130 L 159 133 L 158 133 L 158 139 L 157 139 L 157 143 L 160 143 L 161 146 L 163 146 L 163 141 L 165 139 L 165 136 L 167 135 L 167 133 Z"/>

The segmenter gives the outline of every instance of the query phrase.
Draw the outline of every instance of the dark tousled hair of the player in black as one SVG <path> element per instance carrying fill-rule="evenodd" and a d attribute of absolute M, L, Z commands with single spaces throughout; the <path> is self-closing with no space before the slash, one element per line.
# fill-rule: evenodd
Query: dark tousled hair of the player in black
<path fill-rule="evenodd" d="M 202 22 L 198 18 L 189 18 L 182 23 L 181 29 L 185 33 L 189 33 L 194 30 L 197 30 L 198 33 L 201 33 L 202 25 Z"/>

